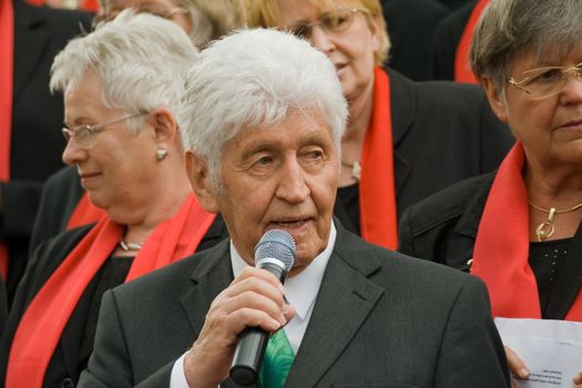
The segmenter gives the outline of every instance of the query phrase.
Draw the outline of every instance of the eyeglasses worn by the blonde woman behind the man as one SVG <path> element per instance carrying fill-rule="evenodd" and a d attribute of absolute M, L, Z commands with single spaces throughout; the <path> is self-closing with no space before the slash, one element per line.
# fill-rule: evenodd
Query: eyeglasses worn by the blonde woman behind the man
<path fill-rule="evenodd" d="M 358 12 L 366 12 L 364 10 L 351 8 L 351 9 L 338 9 L 329 12 L 323 12 L 317 18 L 317 21 L 312 23 L 296 22 L 285 25 L 285 30 L 292 32 L 294 35 L 309 40 L 312 38 L 313 29 L 319 25 L 326 33 L 340 33 L 345 32 L 351 23 Z"/>

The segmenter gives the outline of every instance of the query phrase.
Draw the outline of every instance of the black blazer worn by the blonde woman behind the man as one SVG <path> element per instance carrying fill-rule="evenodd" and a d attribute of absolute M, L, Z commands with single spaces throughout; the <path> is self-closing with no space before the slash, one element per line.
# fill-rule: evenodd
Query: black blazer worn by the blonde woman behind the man
<path fill-rule="evenodd" d="M 499 166 L 514 137 L 481 88 L 412 82 L 389 69 L 388 74 L 398 217 L 430 194 Z M 336 215 L 356 231 L 338 201 Z"/>

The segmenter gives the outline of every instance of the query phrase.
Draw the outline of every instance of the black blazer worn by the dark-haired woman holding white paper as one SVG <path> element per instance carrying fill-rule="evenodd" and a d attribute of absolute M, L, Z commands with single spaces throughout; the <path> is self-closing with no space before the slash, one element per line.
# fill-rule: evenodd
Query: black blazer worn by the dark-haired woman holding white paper
<path fill-rule="evenodd" d="M 407 210 L 400 221 L 398 251 L 468 272 L 493 177 L 491 173 L 460 182 Z M 572 259 L 560 267 L 544 318 L 563 319 L 582 288 L 582 226 L 568 257 Z"/>

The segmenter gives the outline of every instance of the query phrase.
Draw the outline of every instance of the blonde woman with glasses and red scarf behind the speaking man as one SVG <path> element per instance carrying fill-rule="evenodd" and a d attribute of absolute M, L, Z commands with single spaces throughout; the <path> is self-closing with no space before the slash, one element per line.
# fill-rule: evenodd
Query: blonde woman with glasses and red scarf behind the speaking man
<path fill-rule="evenodd" d="M 513 143 L 480 88 L 415 83 L 381 68 L 390 42 L 378 0 L 247 0 L 251 27 L 308 40 L 337 69 L 349 104 L 335 213 L 366 241 L 395 248 L 404 210 L 492 171 Z"/>

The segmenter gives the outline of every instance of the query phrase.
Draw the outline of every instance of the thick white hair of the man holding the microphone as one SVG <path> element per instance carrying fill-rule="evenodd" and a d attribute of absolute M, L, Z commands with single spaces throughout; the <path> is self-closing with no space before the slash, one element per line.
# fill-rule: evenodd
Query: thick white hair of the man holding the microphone
<path fill-rule="evenodd" d="M 177 121 L 186 149 L 202 157 L 221 187 L 224 145 L 242 130 L 282 122 L 289 109 L 320 115 L 340 150 L 347 104 L 334 64 L 294 35 L 239 30 L 213 42 L 186 74 Z"/>

